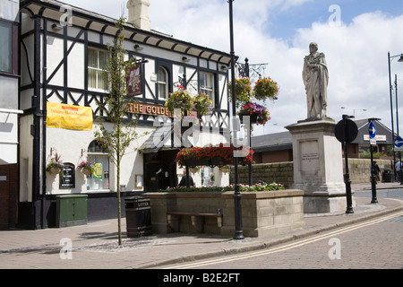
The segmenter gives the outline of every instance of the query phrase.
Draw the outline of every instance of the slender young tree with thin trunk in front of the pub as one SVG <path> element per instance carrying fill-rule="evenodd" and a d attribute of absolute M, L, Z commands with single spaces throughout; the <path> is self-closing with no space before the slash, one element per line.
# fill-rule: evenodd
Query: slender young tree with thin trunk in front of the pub
<path fill-rule="evenodd" d="M 126 113 L 127 104 L 127 76 L 135 66 L 134 58 L 125 60 L 124 50 L 124 18 L 116 22 L 116 38 L 113 45 L 108 45 L 110 57 L 104 72 L 109 84 L 109 96 L 101 104 L 100 109 L 107 113 L 107 120 L 99 118 L 99 129 L 94 132 L 97 141 L 107 150 L 110 160 L 116 165 L 116 195 L 117 195 L 117 231 L 118 244 L 122 245 L 121 228 L 121 196 L 120 196 L 120 168 L 121 161 L 130 143 L 139 138 L 135 126 L 137 122 L 129 119 Z M 106 122 L 111 125 L 107 125 Z"/>

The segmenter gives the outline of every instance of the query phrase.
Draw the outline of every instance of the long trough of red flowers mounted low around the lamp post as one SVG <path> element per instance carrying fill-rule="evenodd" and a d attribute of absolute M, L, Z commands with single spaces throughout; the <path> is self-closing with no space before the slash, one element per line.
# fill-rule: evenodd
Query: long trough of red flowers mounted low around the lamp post
<path fill-rule="evenodd" d="M 252 161 L 252 150 L 244 148 L 237 151 L 232 145 L 225 147 L 223 143 L 219 143 L 219 146 L 184 148 L 176 154 L 176 162 L 180 167 L 222 167 L 234 164 L 235 151 L 239 153 L 239 161 L 242 164 Z"/>

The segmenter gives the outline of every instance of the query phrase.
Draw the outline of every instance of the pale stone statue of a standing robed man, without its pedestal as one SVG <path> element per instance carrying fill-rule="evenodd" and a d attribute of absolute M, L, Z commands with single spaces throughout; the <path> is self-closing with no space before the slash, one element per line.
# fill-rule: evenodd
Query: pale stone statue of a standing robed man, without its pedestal
<path fill-rule="evenodd" d="M 308 119 L 326 117 L 328 101 L 328 67 L 323 53 L 318 53 L 318 44 L 309 44 L 310 54 L 304 57 L 303 80 L 308 103 Z"/>

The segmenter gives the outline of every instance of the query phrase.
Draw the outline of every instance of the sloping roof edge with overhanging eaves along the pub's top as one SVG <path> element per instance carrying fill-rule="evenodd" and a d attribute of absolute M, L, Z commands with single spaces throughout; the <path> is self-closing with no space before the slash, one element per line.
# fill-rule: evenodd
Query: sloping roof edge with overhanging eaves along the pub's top
<path fill-rule="evenodd" d="M 39 15 L 55 22 L 60 22 L 60 19 L 64 14 L 64 12 L 60 11 L 64 11 L 64 9 L 60 9 L 63 5 L 65 5 L 63 2 L 56 0 L 21 0 L 20 7 L 21 12 L 29 13 L 32 17 L 34 15 Z M 116 19 L 72 5 L 68 6 L 72 7 L 73 25 L 88 30 L 101 31 L 110 36 L 116 35 Z M 229 65 L 231 62 L 231 56 L 228 53 L 195 45 L 180 39 L 174 39 L 172 36 L 156 30 L 141 30 L 130 23 L 125 24 L 125 30 L 123 33 L 126 39 L 131 39 L 139 44 L 167 49 L 192 57 L 201 57 L 207 60 L 217 61 L 224 65 Z"/>

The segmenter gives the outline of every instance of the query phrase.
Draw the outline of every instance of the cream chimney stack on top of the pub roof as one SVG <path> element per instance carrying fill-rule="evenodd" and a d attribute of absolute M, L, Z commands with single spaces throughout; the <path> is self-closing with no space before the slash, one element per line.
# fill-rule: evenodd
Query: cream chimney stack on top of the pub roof
<path fill-rule="evenodd" d="M 141 30 L 151 30 L 149 6 L 150 0 L 129 0 L 127 2 L 129 20 L 127 22 Z"/>

